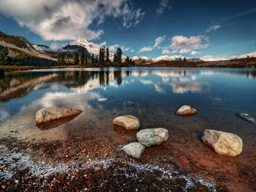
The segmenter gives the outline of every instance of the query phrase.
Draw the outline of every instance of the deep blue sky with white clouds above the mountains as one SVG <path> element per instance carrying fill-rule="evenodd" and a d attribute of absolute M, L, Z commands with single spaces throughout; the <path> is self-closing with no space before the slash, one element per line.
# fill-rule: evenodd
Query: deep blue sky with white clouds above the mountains
<path fill-rule="evenodd" d="M 253 0 L 0 0 L 0 31 L 64 47 L 80 38 L 125 56 L 204 60 L 256 51 Z"/>

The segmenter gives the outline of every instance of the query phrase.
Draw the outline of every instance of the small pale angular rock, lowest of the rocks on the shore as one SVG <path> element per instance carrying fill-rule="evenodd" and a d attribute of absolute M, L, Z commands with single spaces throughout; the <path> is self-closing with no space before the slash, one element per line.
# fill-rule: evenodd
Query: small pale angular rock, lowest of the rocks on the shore
<path fill-rule="evenodd" d="M 140 159 L 145 150 L 145 147 L 140 143 L 130 143 L 123 146 L 122 150 L 125 151 L 125 153 L 127 153 L 129 156 Z"/>

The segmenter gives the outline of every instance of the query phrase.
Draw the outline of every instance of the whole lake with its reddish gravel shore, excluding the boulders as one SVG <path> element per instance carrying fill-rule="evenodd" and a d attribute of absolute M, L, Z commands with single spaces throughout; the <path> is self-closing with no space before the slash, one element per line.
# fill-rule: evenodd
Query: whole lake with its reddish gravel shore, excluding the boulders
<path fill-rule="evenodd" d="M 237 115 L 256 116 L 255 84 L 254 69 L 128 67 L 7 73 L 0 92 L 2 189 L 256 190 L 256 124 Z M 103 97 L 109 99 L 99 102 Z M 198 114 L 177 116 L 182 105 L 191 105 Z M 52 106 L 83 112 L 38 127 L 35 113 Z M 122 146 L 137 142 L 136 131 L 114 129 L 113 119 L 128 114 L 140 119 L 140 129 L 168 129 L 169 139 L 145 148 L 140 160 L 127 156 Z M 205 129 L 239 135 L 242 153 L 216 154 L 200 140 Z"/>

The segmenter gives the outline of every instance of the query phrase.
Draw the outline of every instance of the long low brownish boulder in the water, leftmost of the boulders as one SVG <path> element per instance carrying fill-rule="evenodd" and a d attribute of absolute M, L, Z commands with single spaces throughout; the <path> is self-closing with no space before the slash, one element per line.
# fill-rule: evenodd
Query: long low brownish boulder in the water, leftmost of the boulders
<path fill-rule="evenodd" d="M 61 119 L 68 116 L 80 114 L 82 111 L 77 108 L 44 108 L 40 109 L 36 115 L 36 123 L 45 123 L 57 119 Z"/>

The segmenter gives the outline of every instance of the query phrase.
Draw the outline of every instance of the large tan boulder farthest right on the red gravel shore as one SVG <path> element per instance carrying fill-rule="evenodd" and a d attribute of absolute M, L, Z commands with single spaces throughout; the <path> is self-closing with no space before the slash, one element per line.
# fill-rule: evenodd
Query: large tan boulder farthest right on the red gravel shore
<path fill-rule="evenodd" d="M 243 142 L 235 134 L 206 129 L 201 140 L 220 155 L 234 157 L 242 152 Z"/>

